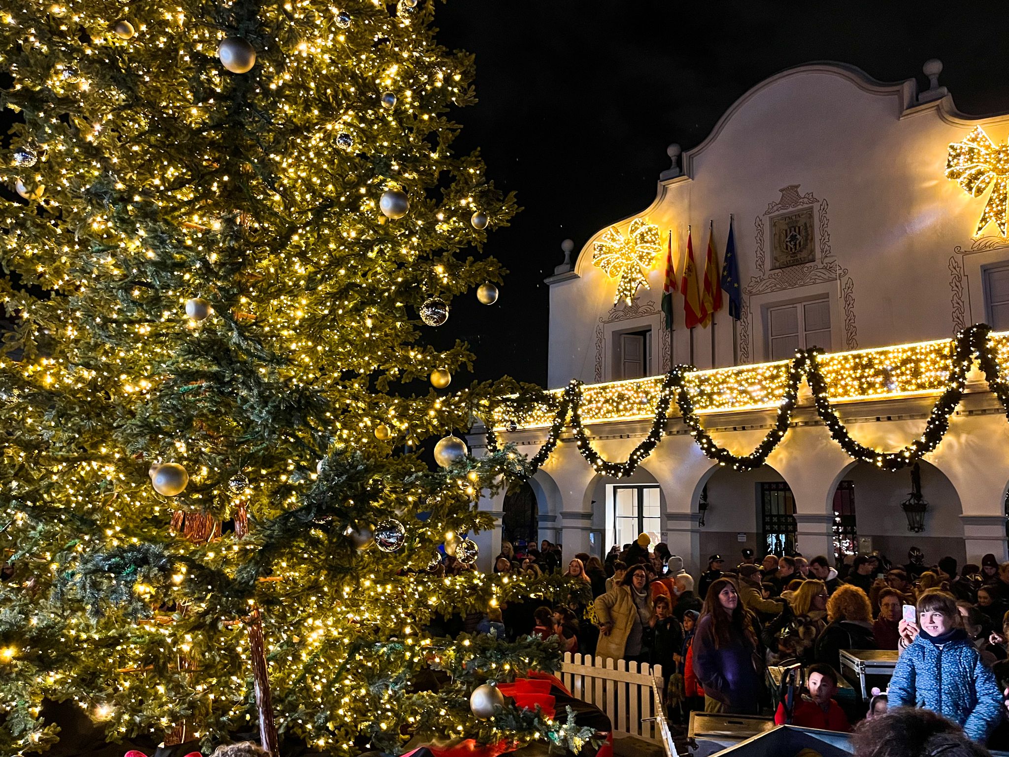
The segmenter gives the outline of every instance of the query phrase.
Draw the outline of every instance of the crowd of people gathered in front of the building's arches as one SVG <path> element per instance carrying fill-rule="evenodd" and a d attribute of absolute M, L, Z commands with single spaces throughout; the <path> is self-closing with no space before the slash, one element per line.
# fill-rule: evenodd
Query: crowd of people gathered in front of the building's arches
<path fill-rule="evenodd" d="M 849 731 L 888 708 L 924 707 L 975 743 L 1009 745 L 1009 562 L 989 554 L 981 565 L 949 556 L 926 564 L 912 548 L 903 564 L 874 553 L 833 566 L 823 555 L 758 562 L 743 550 L 732 566 L 710 555 L 695 580 L 665 544 L 650 547 L 643 534 L 604 559 L 581 553 L 565 563 L 546 541 L 523 555 L 506 544 L 495 571 L 563 572 L 584 581 L 592 601 L 537 607 L 531 627 L 510 608 L 483 621 L 513 637 L 557 636 L 566 651 L 661 665 L 673 718 L 773 713 L 778 723 Z M 899 658 L 889 690 L 850 717 L 834 698 L 840 651 L 870 649 Z M 779 705 L 767 668 L 795 664 L 805 691 Z"/>

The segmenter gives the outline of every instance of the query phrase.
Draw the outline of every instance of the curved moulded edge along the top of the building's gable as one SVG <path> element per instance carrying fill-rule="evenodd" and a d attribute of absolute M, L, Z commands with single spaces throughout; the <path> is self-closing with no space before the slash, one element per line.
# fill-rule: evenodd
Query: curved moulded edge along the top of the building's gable
<path fill-rule="evenodd" d="M 975 125 L 978 121 L 992 120 L 995 119 L 999 122 L 1009 121 L 1009 111 L 1003 111 L 1001 113 L 994 113 L 990 115 L 983 116 L 970 116 L 966 113 L 961 113 L 957 110 L 957 106 L 954 105 L 952 95 L 945 95 L 937 100 L 932 100 L 927 103 L 918 104 L 916 101 L 918 87 L 917 83 L 913 79 L 905 79 L 903 82 L 881 82 L 873 77 L 869 76 L 862 69 L 857 66 L 852 66 L 851 64 L 839 63 L 837 61 L 813 61 L 806 64 L 801 64 L 799 66 L 793 66 L 783 71 L 779 71 L 777 74 L 768 77 L 762 82 L 756 84 L 747 90 L 739 99 L 734 102 L 721 117 L 714 124 L 714 128 L 711 129 L 710 133 L 704 137 L 703 141 L 700 142 L 696 147 L 684 150 L 681 155 L 683 173 L 681 176 L 675 179 L 668 179 L 666 181 L 660 181 L 658 186 L 658 192 L 656 194 L 655 200 L 642 211 L 634 213 L 633 215 L 622 218 L 614 223 L 607 224 L 603 226 L 582 246 L 578 252 L 578 258 L 574 264 L 574 271 L 578 276 L 582 276 L 584 266 L 590 265 L 592 261 L 592 243 L 599 237 L 599 235 L 605 231 L 610 226 L 616 226 L 622 231 L 625 227 L 635 218 L 647 217 L 655 208 L 659 206 L 663 198 L 666 196 L 666 192 L 678 184 L 683 182 L 688 182 L 693 179 L 693 161 L 694 158 L 701 154 L 705 149 L 707 149 L 714 140 L 721 133 L 722 129 L 728 121 L 735 116 L 740 110 L 743 109 L 747 103 L 750 102 L 754 97 L 756 97 L 760 92 L 775 84 L 788 79 L 793 76 L 800 76 L 804 74 L 823 74 L 827 76 L 835 76 L 842 79 L 846 79 L 853 85 L 858 87 L 863 92 L 868 92 L 872 95 L 878 95 L 881 97 L 894 97 L 897 100 L 895 110 L 895 117 L 902 118 L 909 111 L 914 111 L 915 113 L 924 112 L 926 110 L 933 110 L 935 114 L 947 123 L 952 123 L 961 126 L 971 126 Z M 586 254 L 586 250 L 588 251 Z"/>

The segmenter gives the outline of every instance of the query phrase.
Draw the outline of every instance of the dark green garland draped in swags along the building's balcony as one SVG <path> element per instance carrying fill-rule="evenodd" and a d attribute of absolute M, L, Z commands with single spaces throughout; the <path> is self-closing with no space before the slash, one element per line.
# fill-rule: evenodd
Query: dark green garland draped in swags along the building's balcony
<path fill-rule="evenodd" d="M 799 384 L 803 376 L 809 382 L 809 388 L 812 390 L 816 404 L 816 414 L 829 429 L 833 440 L 848 454 L 857 460 L 870 462 L 884 470 L 899 470 L 908 465 L 913 465 L 934 450 L 939 442 L 942 441 L 942 437 L 945 436 L 949 428 L 949 417 L 956 411 L 957 406 L 964 397 L 967 373 L 971 369 L 971 363 L 975 356 L 977 356 L 981 369 L 985 373 L 989 388 L 999 398 L 1006 417 L 1009 419 L 1009 384 L 1006 384 L 1000 377 L 998 360 L 996 359 L 995 351 L 988 341 L 990 331 L 991 327 L 982 323 L 966 328 L 957 334 L 949 374 L 946 377 L 946 389 L 939 396 L 938 400 L 936 400 L 935 405 L 932 406 L 924 432 L 910 444 L 894 452 L 881 452 L 873 447 L 867 447 L 852 438 L 852 435 L 848 432 L 844 422 L 837 415 L 837 411 L 830 404 L 827 397 L 827 386 L 817 362 L 817 356 L 823 350 L 813 347 L 812 349 L 800 349 L 796 351 L 795 357 L 789 365 L 788 383 L 782 402 L 778 407 L 778 414 L 774 425 L 750 454 L 733 454 L 711 439 L 710 434 L 701 426 L 700 417 L 694 412 L 693 401 L 690 399 L 690 394 L 687 392 L 684 382 L 686 374 L 696 370 L 696 368 L 692 365 L 677 365 L 665 374 L 662 390 L 659 394 L 659 401 L 656 403 L 652 427 L 648 435 L 634 448 L 628 459 L 624 462 L 604 460 L 592 448 L 579 415 L 582 384 L 581 382 L 572 381 L 558 401 L 557 412 L 554 415 L 546 443 L 529 459 L 528 465 L 523 470 L 523 475 L 532 475 L 540 465 L 546 462 L 557 446 L 557 441 L 560 438 L 561 431 L 564 429 L 569 414 L 571 427 L 574 431 L 578 451 L 581 453 L 581 456 L 596 470 L 608 476 L 621 478 L 631 475 L 638 467 L 638 464 L 648 457 L 652 453 L 652 450 L 655 449 L 655 446 L 662 440 L 663 430 L 665 429 L 669 414 L 669 406 L 674 396 L 683 422 L 690 429 L 690 435 L 694 437 L 701 451 L 707 457 L 717 461 L 721 465 L 732 465 L 737 470 L 753 470 L 764 464 L 768 456 L 781 443 L 785 433 L 788 431 L 792 420 L 792 412 L 795 410 L 798 398 Z M 486 427 L 487 447 L 491 452 L 494 452 L 498 449 L 497 434 L 494 432 L 491 422 L 488 421 Z"/>

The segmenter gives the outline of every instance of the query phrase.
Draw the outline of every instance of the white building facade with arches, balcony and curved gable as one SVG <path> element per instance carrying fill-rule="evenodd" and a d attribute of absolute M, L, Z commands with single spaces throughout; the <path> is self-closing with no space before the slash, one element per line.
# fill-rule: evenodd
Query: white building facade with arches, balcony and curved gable
<path fill-rule="evenodd" d="M 1005 191 L 1009 116 L 959 113 L 936 81 L 940 68 L 926 64 L 931 85 L 920 92 L 913 80 L 883 84 L 839 64 L 791 69 L 740 98 L 697 147 L 680 155 L 673 145 L 673 167 L 661 175 L 652 205 L 606 223 L 547 280 L 550 387 L 577 380 L 593 385 L 593 396 L 616 396 L 638 386 L 629 380 L 661 375 L 676 364 L 719 369 L 703 374 L 697 391 L 707 391 L 709 380 L 736 381 L 724 395 L 736 399 L 701 403 L 703 426 L 718 444 L 746 454 L 773 428 L 780 404 L 771 388 L 754 384 L 752 366 L 816 345 L 854 353 L 844 364 L 861 365 L 859 386 L 876 387 L 831 392 L 852 436 L 881 451 L 917 438 L 949 360 L 932 355 L 917 371 L 931 379 L 918 375 L 915 383 L 898 367 L 901 360 L 907 365 L 909 348 L 875 348 L 950 339 L 975 323 L 1009 330 L 1009 239 L 997 223 L 999 208 L 978 228 L 989 196 Z M 978 138 L 978 127 L 995 147 L 972 152 L 991 164 L 989 181 L 976 183 L 984 186 L 972 194 L 945 171 L 949 145 Z M 658 226 L 663 251 L 647 271 L 648 286 L 630 304 L 614 305 L 616 281 L 593 264 L 593 250 L 610 226 L 626 236 L 636 218 Z M 667 244 L 679 283 L 690 233 L 702 278 L 708 235 L 720 266 L 731 219 L 741 318 L 723 307 L 712 324 L 687 329 L 677 293 L 667 329 L 661 310 Z M 869 375 L 873 370 L 885 374 Z M 693 572 L 712 553 L 735 564 L 744 548 L 807 557 L 878 549 L 904 562 L 916 545 L 929 562 L 949 554 L 961 564 L 980 563 L 989 552 L 1000 561 L 1009 556 L 1009 422 L 977 372 L 941 443 L 920 463 L 929 503 L 921 532 L 909 531 L 900 507 L 911 489 L 908 470 L 890 472 L 849 456 L 803 390 L 781 443 L 764 465 L 746 472 L 705 456 L 675 411 L 651 454 L 621 478 L 593 468 L 565 426 L 528 482 L 526 499 L 536 503 L 522 518 L 528 524 L 519 528 L 507 515 L 523 499 L 521 486 L 482 501 L 502 523 L 479 536 L 482 560 L 488 564 L 497 554 L 502 536 L 560 542 L 566 556 L 602 555 L 640 531 L 666 542 Z M 739 400 L 744 391 L 753 402 Z M 651 404 L 621 407 L 624 415 L 611 408 L 582 414 L 592 448 L 607 460 L 627 459 L 651 428 Z M 542 414 L 517 418 L 499 427 L 498 437 L 532 456 L 548 440 L 548 425 Z M 470 444 L 479 454 L 485 437 L 474 435 Z"/>

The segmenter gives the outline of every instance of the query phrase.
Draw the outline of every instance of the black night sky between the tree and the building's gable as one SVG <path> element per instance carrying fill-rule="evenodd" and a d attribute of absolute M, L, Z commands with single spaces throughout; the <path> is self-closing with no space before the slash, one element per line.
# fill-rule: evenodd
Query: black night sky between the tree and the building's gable
<path fill-rule="evenodd" d="M 994 19 L 963 12 L 971 4 L 837 5 L 439 3 L 439 41 L 476 56 L 479 103 L 453 114 L 463 124 L 456 148 L 479 147 L 487 176 L 515 190 L 525 210 L 484 248 L 511 271 L 497 304 L 458 298 L 436 338 L 467 340 L 479 379 L 544 384 L 543 280 L 563 260 L 561 240 L 574 239 L 578 250 L 599 228 L 646 208 L 669 168 L 666 146 L 698 144 L 733 102 L 782 69 L 838 61 L 927 89 L 921 65 L 938 58 L 939 84 L 961 112 L 1009 111 L 1009 42 Z"/>

